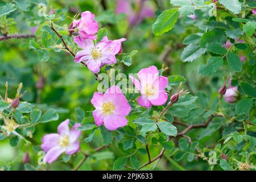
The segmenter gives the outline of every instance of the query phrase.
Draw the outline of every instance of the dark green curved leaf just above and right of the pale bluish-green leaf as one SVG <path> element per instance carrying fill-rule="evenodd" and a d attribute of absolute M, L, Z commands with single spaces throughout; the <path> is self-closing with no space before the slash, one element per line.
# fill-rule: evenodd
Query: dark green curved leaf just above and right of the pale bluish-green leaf
<path fill-rule="evenodd" d="M 200 40 L 200 46 L 201 48 L 205 48 L 207 44 L 218 43 L 220 45 L 223 45 L 225 42 L 226 36 L 224 34 L 224 31 L 212 30 L 204 33 Z"/>

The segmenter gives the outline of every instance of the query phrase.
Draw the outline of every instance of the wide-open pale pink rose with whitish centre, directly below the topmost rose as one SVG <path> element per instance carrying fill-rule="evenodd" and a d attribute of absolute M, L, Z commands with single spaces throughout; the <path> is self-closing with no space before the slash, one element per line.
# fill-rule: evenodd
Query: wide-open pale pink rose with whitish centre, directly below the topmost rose
<path fill-rule="evenodd" d="M 108 40 L 108 38 L 104 37 L 94 45 L 93 40 L 76 36 L 74 41 L 83 50 L 77 52 L 75 62 L 80 63 L 81 61 L 85 61 L 90 71 L 98 73 L 103 65 L 115 64 L 117 62 L 115 55 L 122 50 L 121 43 L 125 40 L 125 38 Z"/>

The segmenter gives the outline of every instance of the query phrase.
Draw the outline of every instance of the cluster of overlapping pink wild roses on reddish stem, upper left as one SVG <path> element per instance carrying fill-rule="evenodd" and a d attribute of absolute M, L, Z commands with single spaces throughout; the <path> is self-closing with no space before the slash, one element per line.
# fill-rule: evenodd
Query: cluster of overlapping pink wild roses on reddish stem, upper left
<path fill-rule="evenodd" d="M 74 20 L 72 28 L 77 28 L 79 36 L 74 38 L 74 42 L 82 51 L 77 52 L 75 62 L 84 62 L 93 73 L 100 72 L 100 68 L 105 64 L 115 64 L 115 55 L 122 52 L 121 43 L 125 38 L 118 40 L 108 40 L 105 36 L 100 42 L 96 43 L 98 23 L 94 20 L 94 14 L 85 11 L 81 14 L 80 20 Z"/>

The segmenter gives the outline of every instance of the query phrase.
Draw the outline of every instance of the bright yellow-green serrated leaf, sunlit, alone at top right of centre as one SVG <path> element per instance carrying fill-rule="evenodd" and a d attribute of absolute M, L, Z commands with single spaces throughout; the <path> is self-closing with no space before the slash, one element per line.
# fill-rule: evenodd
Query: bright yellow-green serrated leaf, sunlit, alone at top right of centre
<path fill-rule="evenodd" d="M 163 35 L 165 32 L 172 30 L 172 28 L 174 28 L 178 16 L 178 9 L 170 9 L 163 11 L 163 13 L 160 14 L 156 19 L 156 22 L 152 25 L 154 35 Z"/>

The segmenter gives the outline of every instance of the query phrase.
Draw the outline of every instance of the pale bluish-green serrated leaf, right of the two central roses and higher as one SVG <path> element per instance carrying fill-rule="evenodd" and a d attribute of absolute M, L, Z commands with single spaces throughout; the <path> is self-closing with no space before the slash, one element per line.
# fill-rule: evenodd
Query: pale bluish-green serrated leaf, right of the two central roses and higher
<path fill-rule="evenodd" d="M 181 61 L 192 62 L 203 55 L 205 51 L 206 49 L 201 48 L 199 44 L 189 44 L 189 46 L 185 47 L 181 53 Z"/>

